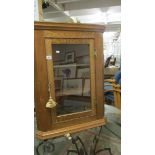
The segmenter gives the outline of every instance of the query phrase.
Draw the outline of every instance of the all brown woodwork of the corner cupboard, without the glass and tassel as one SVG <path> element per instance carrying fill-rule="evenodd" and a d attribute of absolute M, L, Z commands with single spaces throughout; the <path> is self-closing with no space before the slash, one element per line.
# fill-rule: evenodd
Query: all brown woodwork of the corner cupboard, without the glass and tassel
<path fill-rule="evenodd" d="M 103 37 L 104 26 L 93 24 L 68 24 L 35 22 L 35 110 L 37 117 L 38 137 L 45 139 L 55 137 L 66 132 L 77 132 L 91 127 L 105 124 L 103 118 Z M 68 115 L 66 118 L 56 116 L 56 108 L 47 109 L 49 99 L 48 82 L 52 84 L 51 95 L 55 99 L 52 62 L 46 60 L 46 55 L 51 54 L 51 41 L 66 39 L 66 43 L 89 43 L 90 45 L 90 70 L 91 70 L 91 96 L 93 113 L 86 111 L 77 113 L 77 117 Z M 85 40 L 85 41 L 84 41 Z M 45 48 L 46 46 L 46 48 Z M 94 53 L 96 50 L 96 54 Z M 47 53 L 46 53 L 47 52 Z M 94 69 L 95 68 L 95 69 Z M 48 75 L 50 73 L 50 75 Z M 94 95 L 95 94 L 95 95 Z M 56 119 L 58 118 L 58 119 Z M 59 122 L 61 121 L 61 122 Z M 71 126 L 71 127 L 70 127 Z"/>

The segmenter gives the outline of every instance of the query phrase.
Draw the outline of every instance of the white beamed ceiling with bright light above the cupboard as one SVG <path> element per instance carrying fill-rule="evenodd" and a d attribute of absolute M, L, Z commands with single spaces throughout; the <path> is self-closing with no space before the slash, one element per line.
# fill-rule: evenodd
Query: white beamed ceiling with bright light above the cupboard
<path fill-rule="evenodd" d="M 44 0 L 44 21 L 103 24 L 106 31 L 121 29 L 121 0 Z"/>

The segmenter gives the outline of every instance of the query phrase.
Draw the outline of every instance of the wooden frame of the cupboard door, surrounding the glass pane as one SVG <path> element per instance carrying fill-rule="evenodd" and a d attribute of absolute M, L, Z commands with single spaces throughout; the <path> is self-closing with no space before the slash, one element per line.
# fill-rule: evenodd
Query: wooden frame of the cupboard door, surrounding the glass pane
<path fill-rule="evenodd" d="M 91 107 L 92 110 L 76 112 L 72 114 L 65 114 L 61 116 L 56 115 L 56 108 L 51 111 L 53 124 L 61 122 L 68 122 L 73 119 L 80 119 L 81 117 L 96 116 L 96 94 L 95 94 L 95 62 L 94 62 L 94 40 L 93 39 L 45 39 L 46 56 L 52 57 L 52 44 L 89 44 L 89 57 L 90 57 L 90 81 L 91 81 Z M 54 71 L 53 61 L 47 60 L 48 80 L 51 83 L 51 96 L 55 100 L 55 87 L 54 87 Z"/>

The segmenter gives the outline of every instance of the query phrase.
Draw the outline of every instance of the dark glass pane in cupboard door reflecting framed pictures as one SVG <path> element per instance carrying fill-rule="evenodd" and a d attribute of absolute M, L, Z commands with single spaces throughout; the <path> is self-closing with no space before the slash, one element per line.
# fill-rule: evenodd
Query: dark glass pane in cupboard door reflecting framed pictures
<path fill-rule="evenodd" d="M 91 109 L 89 44 L 52 44 L 57 115 Z"/>

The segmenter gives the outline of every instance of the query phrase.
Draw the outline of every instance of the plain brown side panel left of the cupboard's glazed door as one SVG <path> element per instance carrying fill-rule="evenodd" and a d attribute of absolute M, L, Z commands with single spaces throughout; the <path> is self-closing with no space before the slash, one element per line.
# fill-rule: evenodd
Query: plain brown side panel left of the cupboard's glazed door
<path fill-rule="evenodd" d="M 51 111 L 45 107 L 48 101 L 48 81 L 46 51 L 43 32 L 34 32 L 34 87 L 37 128 L 41 131 L 51 129 Z"/>

